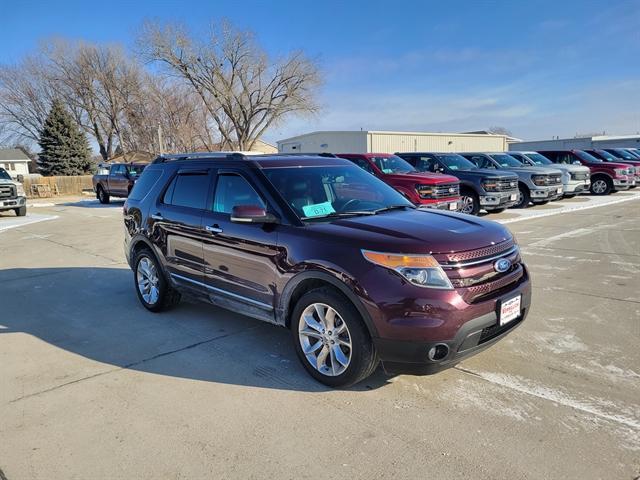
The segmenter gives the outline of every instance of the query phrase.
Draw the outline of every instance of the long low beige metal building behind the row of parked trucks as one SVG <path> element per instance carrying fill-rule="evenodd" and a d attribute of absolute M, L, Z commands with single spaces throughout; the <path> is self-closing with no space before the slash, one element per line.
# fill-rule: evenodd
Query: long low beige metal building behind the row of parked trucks
<path fill-rule="evenodd" d="M 278 142 L 280 153 L 504 152 L 505 135 L 385 131 L 311 132 Z"/>

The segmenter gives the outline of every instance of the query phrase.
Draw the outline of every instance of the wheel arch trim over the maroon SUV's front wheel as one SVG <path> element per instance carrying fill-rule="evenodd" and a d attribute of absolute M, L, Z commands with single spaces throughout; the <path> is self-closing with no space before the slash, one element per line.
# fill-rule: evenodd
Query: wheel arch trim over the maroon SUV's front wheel
<path fill-rule="evenodd" d="M 289 328 L 291 326 L 291 313 L 296 302 L 308 291 L 321 287 L 332 287 L 340 292 L 356 308 L 371 338 L 378 336 L 378 330 L 364 307 L 358 295 L 342 280 L 319 270 L 301 272 L 289 280 L 280 295 L 276 310 L 277 323 Z"/>

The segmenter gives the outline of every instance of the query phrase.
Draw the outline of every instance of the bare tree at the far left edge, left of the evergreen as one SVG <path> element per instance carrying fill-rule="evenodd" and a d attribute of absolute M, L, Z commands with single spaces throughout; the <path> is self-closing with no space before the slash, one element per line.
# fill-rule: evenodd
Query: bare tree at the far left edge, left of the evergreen
<path fill-rule="evenodd" d="M 34 144 L 47 118 L 54 86 L 42 57 L 0 66 L 0 135 L 6 142 Z"/>

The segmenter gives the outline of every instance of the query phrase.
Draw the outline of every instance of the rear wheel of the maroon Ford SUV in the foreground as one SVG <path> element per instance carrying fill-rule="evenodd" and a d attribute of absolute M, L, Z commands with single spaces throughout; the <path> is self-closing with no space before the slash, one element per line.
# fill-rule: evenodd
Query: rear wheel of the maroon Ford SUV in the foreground
<path fill-rule="evenodd" d="M 152 312 L 162 312 L 180 302 L 180 293 L 171 288 L 151 250 L 143 248 L 135 257 L 133 281 L 140 303 Z"/>

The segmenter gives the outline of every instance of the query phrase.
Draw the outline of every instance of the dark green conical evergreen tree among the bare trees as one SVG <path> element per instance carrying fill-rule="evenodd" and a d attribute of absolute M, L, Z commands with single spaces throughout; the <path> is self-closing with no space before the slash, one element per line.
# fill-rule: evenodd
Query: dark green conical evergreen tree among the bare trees
<path fill-rule="evenodd" d="M 89 143 L 60 100 L 55 99 L 40 132 L 38 169 L 48 175 L 82 175 L 91 169 Z"/>

